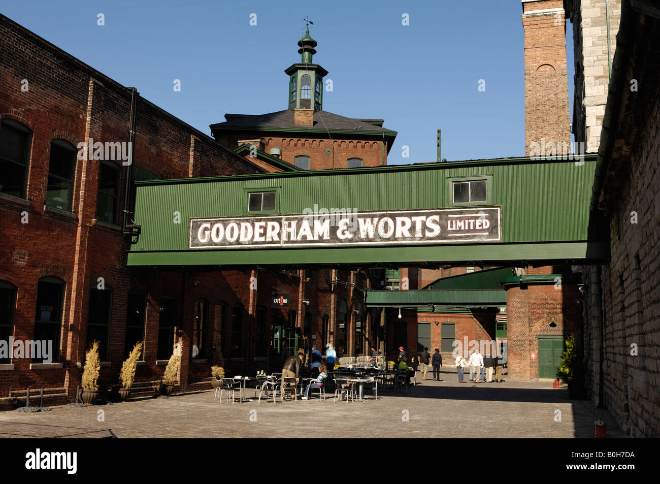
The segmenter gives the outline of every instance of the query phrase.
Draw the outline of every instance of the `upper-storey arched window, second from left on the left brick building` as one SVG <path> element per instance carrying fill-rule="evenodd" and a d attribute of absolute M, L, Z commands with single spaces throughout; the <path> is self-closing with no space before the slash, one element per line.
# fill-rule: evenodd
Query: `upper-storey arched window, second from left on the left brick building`
<path fill-rule="evenodd" d="M 76 151 L 73 145 L 55 139 L 50 143 L 46 206 L 71 211 Z"/>

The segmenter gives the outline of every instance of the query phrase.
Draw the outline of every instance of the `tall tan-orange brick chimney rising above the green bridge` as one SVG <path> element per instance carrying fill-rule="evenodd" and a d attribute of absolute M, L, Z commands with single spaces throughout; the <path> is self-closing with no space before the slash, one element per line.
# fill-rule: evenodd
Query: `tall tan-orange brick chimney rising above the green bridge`
<path fill-rule="evenodd" d="M 563 0 L 522 0 L 525 32 L 525 155 L 533 143 L 570 147 Z M 531 153 L 532 155 L 534 153 Z"/>

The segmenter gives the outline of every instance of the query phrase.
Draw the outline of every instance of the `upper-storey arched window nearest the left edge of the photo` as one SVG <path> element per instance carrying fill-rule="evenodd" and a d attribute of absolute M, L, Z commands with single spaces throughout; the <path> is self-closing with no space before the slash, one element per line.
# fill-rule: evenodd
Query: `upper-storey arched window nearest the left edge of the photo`
<path fill-rule="evenodd" d="M 30 130 L 20 123 L 0 124 L 0 192 L 25 198 L 30 159 Z"/>

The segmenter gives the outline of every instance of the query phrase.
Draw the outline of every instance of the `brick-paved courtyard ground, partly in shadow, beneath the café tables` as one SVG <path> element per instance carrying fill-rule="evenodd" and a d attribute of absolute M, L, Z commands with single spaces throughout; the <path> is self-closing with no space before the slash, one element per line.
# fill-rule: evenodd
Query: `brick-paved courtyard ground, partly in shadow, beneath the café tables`
<path fill-rule="evenodd" d="M 40 413 L 0 412 L 0 437 L 593 438 L 598 418 L 606 421 L 608 437 L 624 436 L 607 411 L 589 400 L 568 399 L 568 390 L 554 390 L 552 382 L 459 384 L 453 368 L 443 370 L 446 382 L 427 380 L 407 394 L 379 392 L 377 401 L 333 403 L 314 396 L 277 405 L 220 405 L 210 390 Z M 246 390 L 246 398 L 253 394 Z"/>

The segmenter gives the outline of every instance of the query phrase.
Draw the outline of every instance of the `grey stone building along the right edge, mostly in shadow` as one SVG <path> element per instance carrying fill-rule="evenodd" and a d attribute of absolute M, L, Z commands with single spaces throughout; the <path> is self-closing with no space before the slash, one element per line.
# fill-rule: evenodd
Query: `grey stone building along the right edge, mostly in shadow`
<path fill-rule="evenodd" d="M 586 112 L 576 141 L 598 149 L 591 221 L 605 220 L 610 246 L 605 263 L 584 267 L 586 384 L 595 405 L 609 409 L 630 436 L 657 437 L 660 11 L 636 1 L 586 3 L 572 2 L 574 30 L 583 36 L 576 38 L 576 63 L 585 59 L 576 80 L 593 85 L 581 96 L 576 85 L 578 118 Z M 587 65 L 591 53 L 597 55 Z M 608 82 L 605 102 L 600 86 Z"/>

